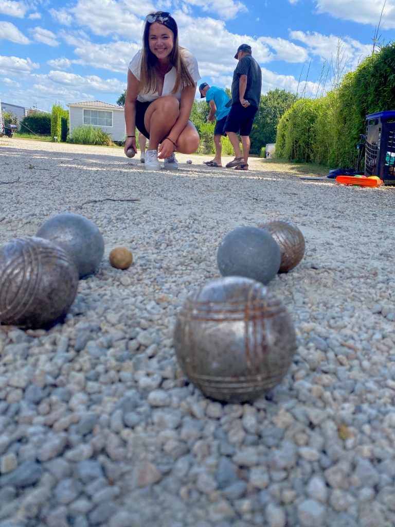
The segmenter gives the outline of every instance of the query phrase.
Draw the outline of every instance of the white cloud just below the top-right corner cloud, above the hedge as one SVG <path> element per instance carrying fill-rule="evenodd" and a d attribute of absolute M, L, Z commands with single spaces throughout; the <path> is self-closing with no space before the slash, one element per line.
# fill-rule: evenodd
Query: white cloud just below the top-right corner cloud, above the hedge
<path fill-rule="evenodd" d="M 354 69 L 361 60 L 372 52 L 370 44 L 361 44 L 350 37 L 340 38 L 335 35 L 322 35 L 320 33 L 304 33 L 291 31 L 290 38 L 298 40 L 308 46 L 309 52 L 318 55 L 321 60 L 333 63 L 340 62 L 342 69 Z"/>

